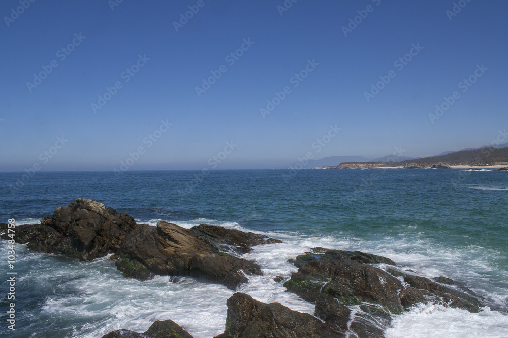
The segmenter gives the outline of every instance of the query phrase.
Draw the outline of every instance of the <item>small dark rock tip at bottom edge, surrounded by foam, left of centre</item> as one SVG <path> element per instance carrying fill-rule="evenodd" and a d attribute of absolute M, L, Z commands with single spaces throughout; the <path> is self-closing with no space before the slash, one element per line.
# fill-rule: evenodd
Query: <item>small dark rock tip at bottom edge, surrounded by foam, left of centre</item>
<path fill-rule="evenodd" d="M 103 335 L 102 338 L 193 338 L 180 325 L 171 320 L 156 320 L 145 333 L 125 329 Z"/>

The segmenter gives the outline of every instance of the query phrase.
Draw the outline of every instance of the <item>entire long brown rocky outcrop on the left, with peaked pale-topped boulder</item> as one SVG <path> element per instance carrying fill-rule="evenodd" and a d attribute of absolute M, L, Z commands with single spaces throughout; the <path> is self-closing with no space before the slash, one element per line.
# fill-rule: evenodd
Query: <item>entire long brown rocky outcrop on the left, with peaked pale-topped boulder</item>
<path fill-rule="evenodd" d="M 17 226 L 16 241 L 28 243 L 34 251 L 79 260 L 113 253 L 117 268 L 126 277 L 147 280 L 155 275 L 193 276 L 233 290 L 248 281 L 246 275 L 262 272 L 256 263 L 224 252 L 224 245 L 243 253 L 253 245 L 280 242 L 204 224 L 193 230 L 165 221 L 156 227 L 136 224 L 128 214 L 82 198 L 68 207 L 56 208 L 52 216 L 41 219 L 40 225 Z"/>

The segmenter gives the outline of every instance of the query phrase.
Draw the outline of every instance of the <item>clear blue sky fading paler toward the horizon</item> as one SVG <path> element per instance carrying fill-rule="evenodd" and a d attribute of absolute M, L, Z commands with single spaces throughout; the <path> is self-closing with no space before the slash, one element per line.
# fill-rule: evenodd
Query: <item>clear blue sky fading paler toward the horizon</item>
<path fill-rule="evenodd" d="M 0 3 L 0 171 L 508 142 L 506 1 L 32 1 Z"/>

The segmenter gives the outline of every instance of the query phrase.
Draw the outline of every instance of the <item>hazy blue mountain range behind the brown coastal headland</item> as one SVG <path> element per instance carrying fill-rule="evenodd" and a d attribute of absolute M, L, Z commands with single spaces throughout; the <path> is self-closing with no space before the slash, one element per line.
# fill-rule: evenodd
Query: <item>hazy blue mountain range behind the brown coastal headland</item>
<path fill-rule="evenodd" d="M 428 159 L 433 159 L 433 160 L 429 160 L 429 161 L 436 160 L 437 162 L 447 162 L 447 159 L 452 159 L 452 158 L 454 159 L 453 162 L 455 163 L 456 160 L 458 159 L 458 157 L 446 157 L 446 155 L 453 154 L 453 153 L 460 153 L 460 152 L 464 152 L 464 151 L 479 151 L 479 153 L 481 154 L 481 149 L 486 148 L 486 147 L 492 147 L 492 148 L 496 148 L 496 149 L 508 148 L 508 143 L 499 144 L 499 145 L 492 145 L 492 146 L 486 145 L 481 148 L 467 148 L 467 149 L 462 149 L 461 151 L 446 151 L 446 152 L 442 152 L 441 154 L 426 157 L 426 158 L 401 156 L 401 157 L 397 158 L 397 163 L 403 163 L 403 162 L 407 162 L 407 161 L 423 163 L 423 162 L 426 162 Z M 438 160 L 437 157 L 439 157 L 441 159 Z M 347 163 L 386 162 L 390 158 L 393 158 L 393 156 L 387 155 L 387 156 L 378 157 L 378 158 L 368 158 L 368 157 L 364 157 L 364 156 L 329 156 L 329 157 L 324 157 L 320 160 L 308 160 L 307 164 L 304 165 L 304 168 L 311 169 L 311 168 L 324 167 L 324 166 L 335 167 L 341 163 L 346 163 L 346 162 Z M 412 161 L 412 160 L 414 160 L 414 161 Z M 421 160 L 423 160 L 423 162 Z M 460 160 L 458 160 L 458 161 L 460 162 Z M 467 159 L 464 158 L 463 161 L 466 162 Z M 452 164 L 452 163 L 450 163 L 450 164 Z M 294 165 L 294 164 L 292 164 L 292 165 Z"/>

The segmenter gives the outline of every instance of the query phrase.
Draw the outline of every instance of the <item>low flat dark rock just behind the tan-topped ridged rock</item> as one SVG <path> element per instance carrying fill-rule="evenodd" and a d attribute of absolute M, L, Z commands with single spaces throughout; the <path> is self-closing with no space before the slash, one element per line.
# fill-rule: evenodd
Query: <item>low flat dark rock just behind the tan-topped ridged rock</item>
<path fill-rule="evenodd" d="M 210 226 L 201 224 L 191 228 L 196 235 L 216 243 L 220 247 L 234 246 L 234 250 L 239 253 L 248 253 L 252 250 L 252 246 L 260 244 L 282 243 L 281 240 L 273 239 L 264 235 L 252 232 L 243 232 L 236 229 L 226 229 L 218 226 Z"/>

